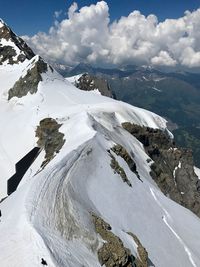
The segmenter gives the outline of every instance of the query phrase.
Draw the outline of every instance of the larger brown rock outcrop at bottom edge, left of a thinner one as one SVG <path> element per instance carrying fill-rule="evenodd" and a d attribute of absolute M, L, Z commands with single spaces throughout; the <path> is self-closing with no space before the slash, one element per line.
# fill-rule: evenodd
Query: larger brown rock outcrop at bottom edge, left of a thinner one
<path fill-rule="evenodd" d="M 98 251 L 100 264 L 106 267 L 137 267 L 135 257 L 124 247 L 121 239 L 111 232 L 111 226 L 94 214 L 92 217 L 96 232 L 106 241 Z"/>

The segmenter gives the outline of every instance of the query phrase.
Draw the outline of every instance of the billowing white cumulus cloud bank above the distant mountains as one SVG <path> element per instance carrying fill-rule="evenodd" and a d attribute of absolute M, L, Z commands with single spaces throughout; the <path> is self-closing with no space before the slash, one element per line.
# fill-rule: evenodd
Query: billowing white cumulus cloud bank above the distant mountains
<path fill-rule="evenodd" d="M 57 16 L 58 15 L 58 16 Z M 59 13 L 55 13 L 59 17 Z M 178 19 L 158 22 L 155 15 L 133 11 L 110 22 L 105 1 L 78 8 L 73 3 L 67 17 L 24 39 L 47 60 L 76 65 L 151 64 L 200 67 L 200 9 Z"/>

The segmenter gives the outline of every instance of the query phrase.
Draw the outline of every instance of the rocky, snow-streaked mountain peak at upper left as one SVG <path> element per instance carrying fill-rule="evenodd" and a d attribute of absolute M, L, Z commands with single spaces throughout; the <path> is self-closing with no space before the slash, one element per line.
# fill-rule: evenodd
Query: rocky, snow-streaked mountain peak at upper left
<path fill-rule="evenodd" d="M 39 83 L 43 80 L 42 74 L 53 69 L 35 55 L 31 48 L 18 37 L 2 20 L 0 22 L 0 67 L 1 77 L 9 78 L 9 84 L 2 87 L 8 100 L 13 97 L 21 98 L 27 94 L 35 94 Z M 7 70 L 9 69 L 9 74 Z M 15 73 L 10 74 L 10 72 Z M 8 78 L 5 78 L 8 77 Z M 2 93 L 1 92 L 1 93 Z"/>

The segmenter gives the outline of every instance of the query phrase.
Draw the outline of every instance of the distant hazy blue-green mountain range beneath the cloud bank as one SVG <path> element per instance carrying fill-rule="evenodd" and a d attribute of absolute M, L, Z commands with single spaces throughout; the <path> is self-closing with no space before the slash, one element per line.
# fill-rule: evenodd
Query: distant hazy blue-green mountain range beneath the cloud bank
<path fill-rule="evenodd" d="M 134 65 L 105 69 L 82 63 L 75 68 L 57 66 L 57 70 L 65 77 L 89 73 L 104 78 L 117 99 L 167 118 L 176 142 L 191 148 L 200 166 L 200 74 Z"/>

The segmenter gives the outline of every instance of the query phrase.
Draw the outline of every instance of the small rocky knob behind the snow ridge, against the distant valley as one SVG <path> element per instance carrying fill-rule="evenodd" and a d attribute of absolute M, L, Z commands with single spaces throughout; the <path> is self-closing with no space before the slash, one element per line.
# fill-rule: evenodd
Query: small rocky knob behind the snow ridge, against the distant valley
<path fill-rule="evenodd" d="M 75 83 L 75 86 L 84 91 L 96 89 L 104 96 L 114 97 L 106 80 L 90 74 L 83 74 Z"/>

